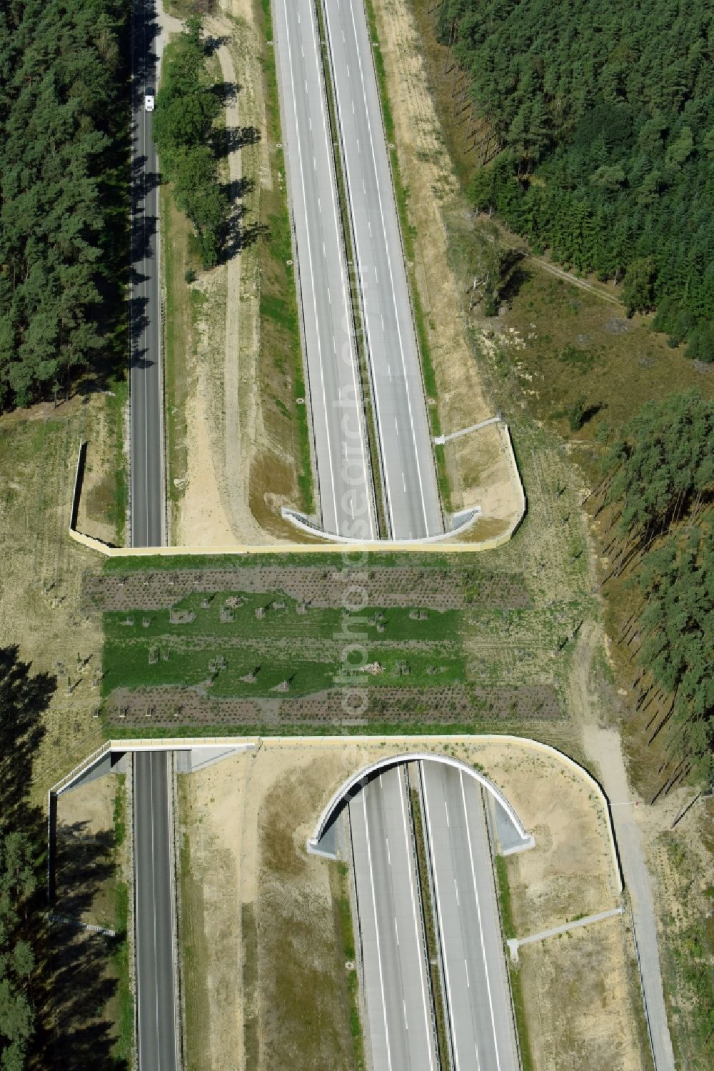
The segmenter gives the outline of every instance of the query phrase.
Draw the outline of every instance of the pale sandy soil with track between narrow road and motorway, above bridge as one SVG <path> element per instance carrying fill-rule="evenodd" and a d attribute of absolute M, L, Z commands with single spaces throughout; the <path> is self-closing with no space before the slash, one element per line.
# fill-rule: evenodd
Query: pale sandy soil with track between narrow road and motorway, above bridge
<path fill-rule="evenodd" d="M 163 21 L 167 33 L 180 26 L 167 16 Z M 222 162 L 225 180 L 234 190 L 245 191 L 240 207 L 249 225 L 258 214 L 261 191 L 272 188 L 255 6 L 250 0 L 226 0 L 207 18 L 206 29 L 221 41 L 215 55 L 222 79 L 237 87 L 227 101 L 226 126 L 258 131 L 256 145 L 234 149 Z M 261 392 L 256 389 L 260 277 L 257 246 L 250 246 L 236 252 L 226 263 L 200 272 L 193 284 L 201 305 L 194 352 L 187 357 L 188 449 L 171 532 L 177 545 L 279 541 L 280 533 L 267 532 L 250 507 L 255 463 L 275 449 L 263 421 Z M 276 525 L 285 527 L 279 519 Z M 295 539 L 287 528 L 282 534 Z"/>

